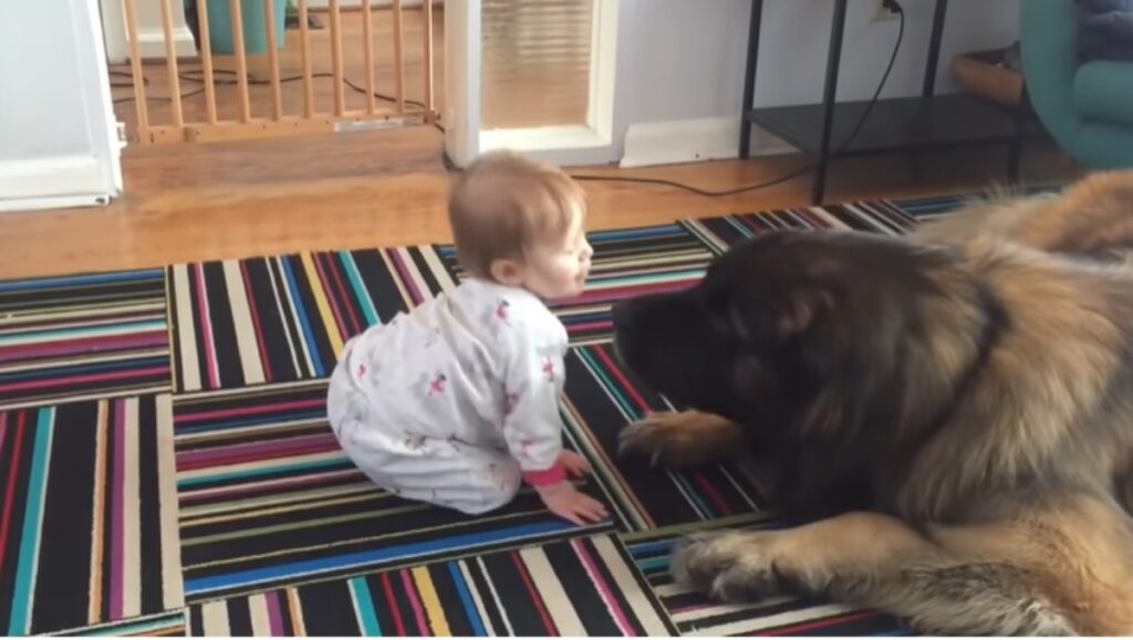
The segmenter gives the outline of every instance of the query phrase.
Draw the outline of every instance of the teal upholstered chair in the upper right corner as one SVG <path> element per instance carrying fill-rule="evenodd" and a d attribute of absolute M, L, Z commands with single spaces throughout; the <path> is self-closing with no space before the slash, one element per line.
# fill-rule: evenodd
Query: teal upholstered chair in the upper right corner
<path fill-rule="evenodd" d="M 1050 136 L 1090 169 L 1133 167 L 1133 62 L 1077 61 L 1073 0 L 1020 0 L 1026 92 Z"/>

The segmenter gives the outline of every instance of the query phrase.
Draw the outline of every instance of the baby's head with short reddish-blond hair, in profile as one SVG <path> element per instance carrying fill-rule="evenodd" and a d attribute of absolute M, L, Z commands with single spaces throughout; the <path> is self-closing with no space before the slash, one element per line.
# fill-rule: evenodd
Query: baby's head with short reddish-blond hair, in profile
<path fill-rule="evenodd" d="M 586 195 L 557 168 L 509 152 L 485 154 L 453 187 L 449 222 L 470 275 L 544 299 L 582 291 L 594 253 Z"/>

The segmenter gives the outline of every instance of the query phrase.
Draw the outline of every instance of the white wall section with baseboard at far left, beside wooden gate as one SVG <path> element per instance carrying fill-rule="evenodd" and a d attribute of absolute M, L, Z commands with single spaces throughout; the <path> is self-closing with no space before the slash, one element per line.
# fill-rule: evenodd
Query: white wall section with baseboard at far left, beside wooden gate
<path fill-rule="evenodd" d="M 0 210 L 93 204 L 121 188 L 96 10 L 0 2 Z"/>

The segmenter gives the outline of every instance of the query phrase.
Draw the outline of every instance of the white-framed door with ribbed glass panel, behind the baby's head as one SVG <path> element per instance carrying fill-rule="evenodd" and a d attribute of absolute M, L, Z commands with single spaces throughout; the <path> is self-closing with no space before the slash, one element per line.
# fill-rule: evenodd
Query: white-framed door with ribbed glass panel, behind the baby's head
<path fill-rule="evenodd" d="M 445 151 L 512 148 L 559 164 L 616 160 L 619 0 L 445 6 Z"/>

